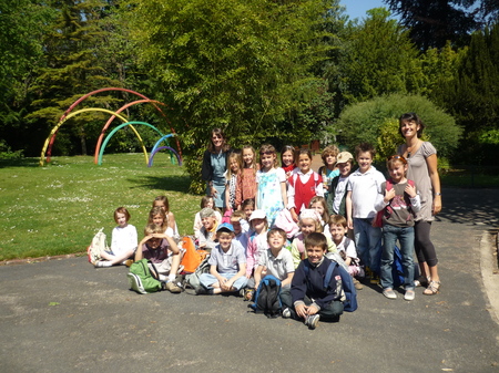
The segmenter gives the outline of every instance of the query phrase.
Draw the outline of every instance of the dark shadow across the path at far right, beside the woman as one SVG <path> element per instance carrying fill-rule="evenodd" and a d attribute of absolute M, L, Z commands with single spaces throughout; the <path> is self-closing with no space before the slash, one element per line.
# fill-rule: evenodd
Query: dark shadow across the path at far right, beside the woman
<path fill-rule="evenodd" d="M 438 220 L 469 225 L 499 226 L 499 190 L 445 188 Z"/>

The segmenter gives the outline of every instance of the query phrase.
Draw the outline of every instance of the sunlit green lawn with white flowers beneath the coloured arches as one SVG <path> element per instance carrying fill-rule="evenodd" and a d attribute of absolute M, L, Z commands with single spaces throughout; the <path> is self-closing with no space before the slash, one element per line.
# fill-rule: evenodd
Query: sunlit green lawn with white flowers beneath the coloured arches
<path fill-rule="evenodd" d="M 187 193 L 189 176 L 165 153 L 154 156 L 152 167 L 142 154 L 105 155 L 101 166 L 93 156 L 38 163 L 0 162 L 0 261 L 85 252 L 102 227 L 110 242 L 120 206 L 129 209 L 141 239 L 157 195 L 169 198 L 180 234 L 193 232 L 201 197 Z"/>

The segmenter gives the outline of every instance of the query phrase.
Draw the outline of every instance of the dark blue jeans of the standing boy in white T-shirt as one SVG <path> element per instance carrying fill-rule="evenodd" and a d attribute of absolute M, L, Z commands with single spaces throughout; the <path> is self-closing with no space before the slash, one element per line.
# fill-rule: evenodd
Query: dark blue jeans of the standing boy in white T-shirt
<path fill-rule="evenodd" d="M 383 232 L 381 228 L 371 226 L 371 220 L 354 218 L 355 246 L 363 263 L 379 274 Z"/>

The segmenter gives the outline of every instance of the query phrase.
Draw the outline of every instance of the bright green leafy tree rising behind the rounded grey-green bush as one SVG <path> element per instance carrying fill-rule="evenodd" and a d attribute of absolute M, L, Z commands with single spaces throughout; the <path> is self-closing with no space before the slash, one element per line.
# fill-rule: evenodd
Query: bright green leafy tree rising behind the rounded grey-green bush
<path fill-rule="evenodd" d="M 418 51 L 389 11 L 376 8 L 350 23 L 329 81 L 338 112 L 348 104 L 388 93 L 417 93 L 422 84 Z"/>

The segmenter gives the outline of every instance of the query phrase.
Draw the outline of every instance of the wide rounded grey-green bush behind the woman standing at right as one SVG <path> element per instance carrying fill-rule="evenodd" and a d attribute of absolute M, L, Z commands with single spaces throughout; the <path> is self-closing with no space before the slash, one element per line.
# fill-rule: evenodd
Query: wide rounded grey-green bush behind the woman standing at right
<path fill-rule="evenodd" d="M 437 148 L 438 154 L 448 157 L 457 148 L 462 128 L 455 120 L 438 108 L 428 99 L 418 95 L 393 94 L 348 106 L 335 127 L 340 133 L 340 143 L 353 149 L 363 142 L 386 144 L 383 152 L 394 153 L 393 144 L 404 143 L 403 137 L 394 139 L 394 121 L 407 112 L 415 112 L 426 124 L 425 136 Z M 391 147 L 391 151 L 390 151 Z"/>

